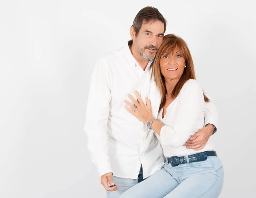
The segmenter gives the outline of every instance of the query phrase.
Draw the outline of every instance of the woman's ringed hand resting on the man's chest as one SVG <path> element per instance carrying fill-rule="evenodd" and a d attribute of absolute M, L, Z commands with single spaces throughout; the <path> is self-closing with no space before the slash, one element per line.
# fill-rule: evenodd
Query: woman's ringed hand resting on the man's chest
<path fill-rule="evenodd" d="M 144 124 L 147 124 L 151 119 L 154 118 L 152 115 L 151 102 L 148 99 L 148 97 L 146 97 L 146 104 L 144 104 L 144 102 L 140 97 L 140 94 L 137 91 L 135 91 L 135 95 L 138 100 L 134 99 L 134 97 L 131 96 L 130 94 L 128 95 L 128 97 L 131 99 L 134 105 L 128 102 L 127 100 L 125 100 L 125 103 L 129 107 L 131 107 L 130 109 L 127 106 L 125 106 L 125 109 L 128 110 L 131 114 L 133 114 L 141 122 L 143 122 Z"/>

